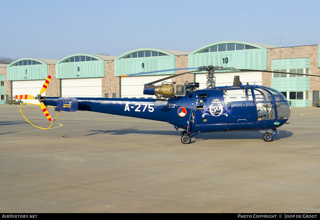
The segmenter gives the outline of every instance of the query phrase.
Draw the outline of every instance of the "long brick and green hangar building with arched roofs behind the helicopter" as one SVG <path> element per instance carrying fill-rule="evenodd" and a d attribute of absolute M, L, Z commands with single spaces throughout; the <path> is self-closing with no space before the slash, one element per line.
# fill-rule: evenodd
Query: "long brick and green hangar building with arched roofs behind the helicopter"
<path fill-rule="evenodd" d="M 200 47 L 192 52 L 141 48 L 119 57 L 73 54 L 60 60 L 25 58 L 0 66 L 0 104 L 9 96 L 39 93 L 47 75 L 52 76 L 46 96 L 156 98 L 143 95 L 143 85 L 189 70 L 145 72 L 219 65 L 256 72 L 216 72 L 216 85 L 231 85 L 234 75 L 243 83 L 260 84 L 282 92 L 292 107 L 315 106 L 319 98 L 319 77 L 266 73 L 280 70 L 288 73 L 320 75 L 319 44 L 276 47 L 244 41 L 222 41 Z M 141 73 L 139 76 L 120 75 Z M 205 73 L 186 74 L 167 82 L 198 82 L 205 88 Z M 3 85 L 4 84 L 4 85 Z M 160 83 L 158 83 L 160 84 Z M 29 101 L 29 100 L 28 100 Z"/>

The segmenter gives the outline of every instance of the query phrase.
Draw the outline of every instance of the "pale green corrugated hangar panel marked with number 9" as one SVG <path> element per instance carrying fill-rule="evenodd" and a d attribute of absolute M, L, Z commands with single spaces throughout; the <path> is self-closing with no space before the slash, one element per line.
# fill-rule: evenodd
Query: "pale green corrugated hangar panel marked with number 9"
<path fill-rule="evenodd" d="M 144 68 L 142 68 L 142 63 Z M 174 69 L 176 65 L 175 56 L 141 57 L 115 60 L 115 76 L 134 74 L 140 72 L 151 72 L 157 70 Z M 149 73 L 143 75 L 168 75 L 175 71 Z"/>

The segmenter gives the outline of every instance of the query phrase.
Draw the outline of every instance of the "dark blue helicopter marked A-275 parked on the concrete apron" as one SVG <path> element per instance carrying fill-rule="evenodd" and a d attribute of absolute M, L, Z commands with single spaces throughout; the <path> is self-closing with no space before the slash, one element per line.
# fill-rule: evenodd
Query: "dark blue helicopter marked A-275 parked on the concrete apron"
<path fill-rule="evenodd" d="M 181 132 L 181 142 L 183 144 L 189 144 L 191 142 L 191 138 L 197 134 L 222 131 L 272 130 L 272 133 L 266 132 L 263 135 L 264 141 L 272 141 L 273 137 L 279 135 L 277 128 L 287 123 L 290 117 L 290 104 L 284 95 L 277 90 L 261 85 L 242 85 L 239 76 L 235 76 L 232 86 L 215 86 L 214 71 L 257 70 L 236 69 L 233 67 L 223 68 L 219 67 L 218 65 L 183 69 L 196 70 L 172 75 L 161 80 L 145 84 L 143 94 L 161 97 L 156 99 L 41 96 L 41 93 L 45 91 L 48 83 L 50 82 L 50 76 L 50 78 L 48 77 L 44 83 L 44 87 L 40 91 L 40 94 L 36 97 L 31 95 L 21 95 L 16 96 L 16 98 L 38 99 L 40 101 L 40 107 L 47 116 L 48 120 L 51 122 L 51 125 L 61 111 L 74 112 L 77 110 L 124 115 L 129 117 L 168 122 L 174 125 L 176 130 L 179 128 L 183 130 Z M 172 70 L 180 69 L 161 71 Z M 200 71 L 207 72 L 206 89 L 198 89 L 199 83 L 189 82 L 173 82 L 154 85 L 155 83 L 179 75 Z M 263 72 L 274 71 L 264 70 Z M 120 77 L 141 74 L 146 73 L 122 75 Z M 58 115 L 54 120 L 52 120 L 46 108 L 47 106 L 54 107 L 58 111 Z"/>

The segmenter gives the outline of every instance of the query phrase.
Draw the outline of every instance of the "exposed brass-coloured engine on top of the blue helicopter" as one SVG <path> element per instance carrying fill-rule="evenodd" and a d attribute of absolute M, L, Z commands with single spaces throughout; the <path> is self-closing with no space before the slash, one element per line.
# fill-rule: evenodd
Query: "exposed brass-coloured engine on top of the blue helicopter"
<path fill-rule="evenodd" d="M 162 83 L 162 85 L 145 84 L 144 95 L 155 95 L 156 97 L 173 98 L 185 96 L 188 92 L 199 88 L 199 83 Z"/>

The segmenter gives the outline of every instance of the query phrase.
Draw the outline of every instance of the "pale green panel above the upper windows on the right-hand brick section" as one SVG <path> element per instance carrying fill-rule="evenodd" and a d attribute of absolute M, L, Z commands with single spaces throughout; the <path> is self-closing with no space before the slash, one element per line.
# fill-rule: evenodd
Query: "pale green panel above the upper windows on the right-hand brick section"
<path fill-rule="evenodd" d="M 272 59 L 271 69 L 310 68 L 310 58 Z"/>

